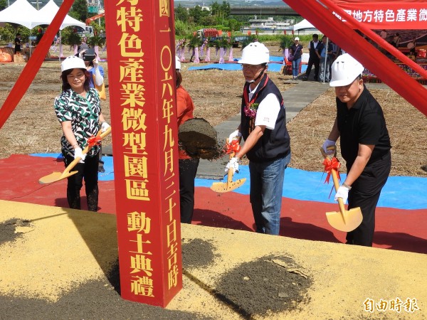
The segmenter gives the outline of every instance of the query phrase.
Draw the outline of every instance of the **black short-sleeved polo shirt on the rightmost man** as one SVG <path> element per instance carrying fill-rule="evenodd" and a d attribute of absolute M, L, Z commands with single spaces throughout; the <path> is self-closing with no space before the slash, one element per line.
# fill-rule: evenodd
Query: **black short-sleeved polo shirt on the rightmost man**
<path fill-rule="evenodd" d="M 347 161 L 348 170 L 357 157 L 359 144 L 374 144 L 374 150 L 367 165 L 381 159 L 391 149 L 383 111 L 366 86 L 350 109 L 347 109 L 347 103 L 337 98 L 337 124 L 341 154 Z"/>

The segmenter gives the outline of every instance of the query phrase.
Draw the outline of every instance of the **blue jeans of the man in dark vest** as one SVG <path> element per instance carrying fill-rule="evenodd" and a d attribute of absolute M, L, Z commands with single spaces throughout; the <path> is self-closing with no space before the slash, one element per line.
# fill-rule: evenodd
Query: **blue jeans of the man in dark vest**
<path fill-rule="evenodd" d="M 290 154 L 263 163 L 249 162 L 250 199 L 257 233 L 279 234 L 283 180 L 289 162 Z"/>

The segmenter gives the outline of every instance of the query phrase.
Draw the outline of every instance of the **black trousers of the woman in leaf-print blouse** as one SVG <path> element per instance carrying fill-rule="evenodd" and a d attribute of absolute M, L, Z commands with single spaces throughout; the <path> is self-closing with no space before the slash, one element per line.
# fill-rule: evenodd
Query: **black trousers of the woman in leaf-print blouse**
<path fill-rule="evenodd" d="M 74 160 L 73 156 L 66 156 L 64 159 L 65 167 Z M 97 171 L 99 164 L 99 156 L 86 156 L 84 164 L 76 164 L 73 170 L 78 171 L 77 174 L 68 178 L 67 184 L 67 200 L 68 206 L 72 209 L 80 209 L 80 189 L 83 186 L 83 178 L 85 179 L 86 201 L 88 210 L 97 211 L 98 204 L 98 186 L 97 186 Z"/>

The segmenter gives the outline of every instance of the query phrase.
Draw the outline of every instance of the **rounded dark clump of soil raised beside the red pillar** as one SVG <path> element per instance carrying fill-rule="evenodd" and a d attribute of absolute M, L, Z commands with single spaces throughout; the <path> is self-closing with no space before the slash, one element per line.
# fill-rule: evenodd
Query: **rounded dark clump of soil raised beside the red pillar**
<path fill-rule="evenodd" d="M 214 160 L 223 156 L 216 129 L 203 118 L 189 119 L 181 124 L 178 139 L 180 148 L 193 158 Z"/>

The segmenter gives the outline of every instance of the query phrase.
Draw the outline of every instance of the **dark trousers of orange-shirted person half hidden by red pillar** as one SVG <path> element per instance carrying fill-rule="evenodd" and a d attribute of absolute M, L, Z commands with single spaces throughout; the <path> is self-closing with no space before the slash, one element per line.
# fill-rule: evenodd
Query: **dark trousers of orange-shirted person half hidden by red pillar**
<path fill-rule="evenodd" d="M 181 223 L 191 223 L 194 213 L 194 178 L 199 159 L 179 159 L 179 199 Z"/>

